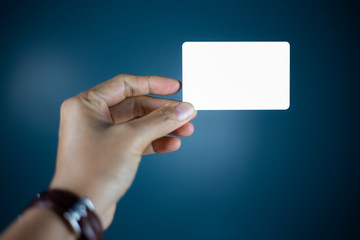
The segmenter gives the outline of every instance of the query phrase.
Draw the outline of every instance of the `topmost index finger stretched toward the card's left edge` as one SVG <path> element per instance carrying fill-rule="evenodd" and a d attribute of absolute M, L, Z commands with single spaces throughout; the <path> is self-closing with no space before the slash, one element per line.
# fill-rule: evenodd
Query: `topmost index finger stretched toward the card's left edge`
<path fill-rule="evenodd" d="M 181 88 L 178 80 L 157 75 L 120 74 L 90 91 L 103 98 L 109 107 L 127 97 L 147 94 L 169 95 Z"/>

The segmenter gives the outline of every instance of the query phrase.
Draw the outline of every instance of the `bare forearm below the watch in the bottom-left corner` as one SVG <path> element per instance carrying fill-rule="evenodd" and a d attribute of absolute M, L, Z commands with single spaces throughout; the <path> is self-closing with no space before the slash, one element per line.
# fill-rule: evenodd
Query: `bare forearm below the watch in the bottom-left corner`
<path fill-rule="evenodd" d="M 75 235 L 51 209 L 30 208 L 13 222 L 0 240 L 75 240 Z"/>

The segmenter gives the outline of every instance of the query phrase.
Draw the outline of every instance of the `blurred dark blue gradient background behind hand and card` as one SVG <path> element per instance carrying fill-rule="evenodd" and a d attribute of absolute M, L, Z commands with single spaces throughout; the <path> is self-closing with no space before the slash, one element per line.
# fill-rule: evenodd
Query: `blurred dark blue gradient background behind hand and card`
<path fill-rule="evenodd" d="M 143 158 L 106 239 L 359 239 L 352 2 L 3 1 L 0 228 L 51 179 L 64 99 L 119 73 L 181 80 L 184 41 L 285 40 L 290 109 L 199 112 L 181 150 Z"/>

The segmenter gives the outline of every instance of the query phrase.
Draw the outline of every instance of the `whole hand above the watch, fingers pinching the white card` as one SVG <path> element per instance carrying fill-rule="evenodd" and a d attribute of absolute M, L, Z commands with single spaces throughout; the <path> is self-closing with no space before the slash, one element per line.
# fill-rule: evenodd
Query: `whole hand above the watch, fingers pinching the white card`
<path fill-rule="evenodd" d="M 180 139 L 165 135 L 193 133 L 191 104 L 144 96 L 174 94 L 180 87 L 171 78 L 121 74 L 67 99 L 50 187 L 88 196 L 107 228 L 141 156 L 176 151 Z"/>

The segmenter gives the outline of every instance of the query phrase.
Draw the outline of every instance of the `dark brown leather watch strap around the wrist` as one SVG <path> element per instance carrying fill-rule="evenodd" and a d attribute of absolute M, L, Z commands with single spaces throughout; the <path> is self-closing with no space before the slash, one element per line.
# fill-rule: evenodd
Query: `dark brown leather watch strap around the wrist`
<path fill-rule="evenodd" d="M 76 231 L 74 231 L 73 225 L 68 221 L 67 218 L 64 217 L 64 213 L 71 212 L 75 205 L 79 205 L 79 203 L 81 204 L 80 200 L 81 199 L 77 195 L 69 191 L 50 189 L 41 194 L 38 194 L 37 198 L 34 199 L 28 208 L 42 207 L 52 209 L 69 227 L 69 229 L 76 233 Z M 101 240 L 103 238 L 103 230 L 99 218 L 95 212 L 93 212 L 85 205 L 81 207 L 86 208 L 86 213 L 84 212 L 80 219 L 76 219 L 81 231 L 79 239 Z"/>

